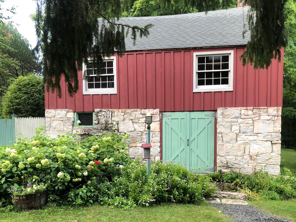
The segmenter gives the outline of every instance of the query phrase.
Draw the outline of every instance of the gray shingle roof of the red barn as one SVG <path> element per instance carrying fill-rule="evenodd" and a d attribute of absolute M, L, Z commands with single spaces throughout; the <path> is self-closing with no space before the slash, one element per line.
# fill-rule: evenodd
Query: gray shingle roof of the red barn
<path fill-rule="evenodd" d="M 126 37 L 126 51 L 181 49 L 214 46 L 246 45 L 249 33 L 242 38 L 243 20 L 247 17 L 247 7 L 226 10 L 168 15 L 154 17 L 120 18 L 118 22 L 149 29 L 149 36 L 133 40 Z M 246 23 L 246 22 L 245 22 Z"/>

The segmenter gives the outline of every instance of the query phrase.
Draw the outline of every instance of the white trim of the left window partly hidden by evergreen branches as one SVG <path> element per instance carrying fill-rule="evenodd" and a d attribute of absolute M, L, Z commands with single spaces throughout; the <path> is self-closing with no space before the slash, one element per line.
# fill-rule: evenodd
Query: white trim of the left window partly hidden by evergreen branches
<path fill-rule="evenodd" d="M 89 58 L 89 61 L 92 59 Z M 116 56 L 111 56 L 108 58 L 105 58 L 104 61 L 110 61 L 113 60 L 113 73 L 114 73 L 114 88 L 113 89 L 87 89 L 87 81 L 83 79 L 83 95 L 91 95 L 91 94 L 117 94 L 117 72 L 116 72 Z M 83 63 L 82 66 L 82 73 L 86 70 L 86 64 Z"/>

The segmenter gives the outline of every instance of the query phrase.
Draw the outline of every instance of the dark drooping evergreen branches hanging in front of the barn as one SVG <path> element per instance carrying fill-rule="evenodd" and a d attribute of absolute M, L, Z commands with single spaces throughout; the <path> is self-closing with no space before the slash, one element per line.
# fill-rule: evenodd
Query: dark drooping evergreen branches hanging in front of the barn
<path fill-rule="evenodd" d="M 47 90 L 57 90 L 62 95 L 60 80 L 65 77 L 70 96 L 78 90 L 78 70 L 82 70 L 83 62 L 92 57 L 96 67 L 103 67 L 103 57 L 125 51 L 126 31 L 136 40 L 136 34 L 147 36 L 152 24 L 144 28 L 129 26 L 116 22 L 115 18 L 123 12 L 131 13 L 136 1 L 130 0 L 36 0 L 38 11 L 37 34 L 44 46 L 43 65 L 44 81 Z M 281 58 L 280 50 L 286 45 L 284 32 L 284 4 L 287 0 L 245 0 L 251 6 L 248 13 L 250 41 L 241 59 L 243 64 L 250 62 L 257 67 L 268 67 L 273 58 Z M 153 2 L 145 3 L 149 13 L 153 12 Z M 158 0 L 162 11 L 177 6 L 180 0 Z M 144 5 L 145 5 L 144 4 Z M 184 0 L 185 8 L 197 11 L 209 11 L 221 7 L 231 7 L 233 0 Z M 141 7 L 138 7 L 141 8 Z M 44 23 L 41 26 L 41 15 L 44 9 Z M 134 12 L 141 14 L 140 10 Z M 149 14 L 148 13 L 148 14 Z M 98 19 L 100 18 L 100 19 Z M 41 34 L 42 33 L 42 34 Z M 256 55 L 256 56 L 255 56 Z M 101 69 L 98 69 L 101 70 Z M 86 74 L 86 73 L 85 73 Z M 87 76 L 85 76 L 87 78 Z"/>

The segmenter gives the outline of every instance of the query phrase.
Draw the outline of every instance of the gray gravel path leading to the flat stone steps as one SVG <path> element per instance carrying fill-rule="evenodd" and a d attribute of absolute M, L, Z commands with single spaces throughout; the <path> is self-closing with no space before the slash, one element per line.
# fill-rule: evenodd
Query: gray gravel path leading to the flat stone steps
<path fill-rule="evenodd" d="M 268 214 L 250 205 L 214 203 L 209 203 L 209 205 L 220 209 L 226 217 L 234 219 L 235 222 L 293 222 L 285 218 Z"/>

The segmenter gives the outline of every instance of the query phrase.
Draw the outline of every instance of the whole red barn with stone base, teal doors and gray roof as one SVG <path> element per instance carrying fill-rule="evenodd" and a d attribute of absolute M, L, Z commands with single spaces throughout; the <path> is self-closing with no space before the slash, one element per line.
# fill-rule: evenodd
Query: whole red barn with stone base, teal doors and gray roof
<path fill-rule="evenodd" d="M 196 173 L 262 169 L 277 175 L 283 62 L 274 60 L 267 70 L 242 66 L 246 17 L 247 8 L 240 7 L 121 18 L 123 24 L 154 26 L 135 46 L 127 37 L 123 57 L 105 60 L 106 74 L 97 77 L 91 63 L 85 66 L 91 78 L 78 73 L 73 97 L 63 81 L 61 99 L 46 93 L 47 134 L 87 136 L 115 128 L 130 133 L 129 155 L 143 157 L 150 112 L 153 160 L 174 160 Z"/>

